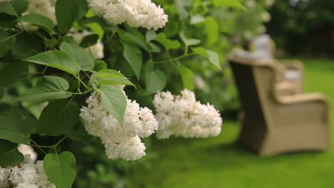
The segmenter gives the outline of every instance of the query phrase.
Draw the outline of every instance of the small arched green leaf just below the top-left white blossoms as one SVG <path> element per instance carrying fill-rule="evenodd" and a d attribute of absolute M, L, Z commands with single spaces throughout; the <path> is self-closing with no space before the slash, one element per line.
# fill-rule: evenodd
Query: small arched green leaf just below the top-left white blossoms
<path fill-rule="evenodd" d="M 39 14 L 26 14 L 16 19 L 16 21 L 31 23 L 35 26 L 44 28 L 44 30 L 49 33 L 54 33 L 54 22 L 46 16 Z"/>

